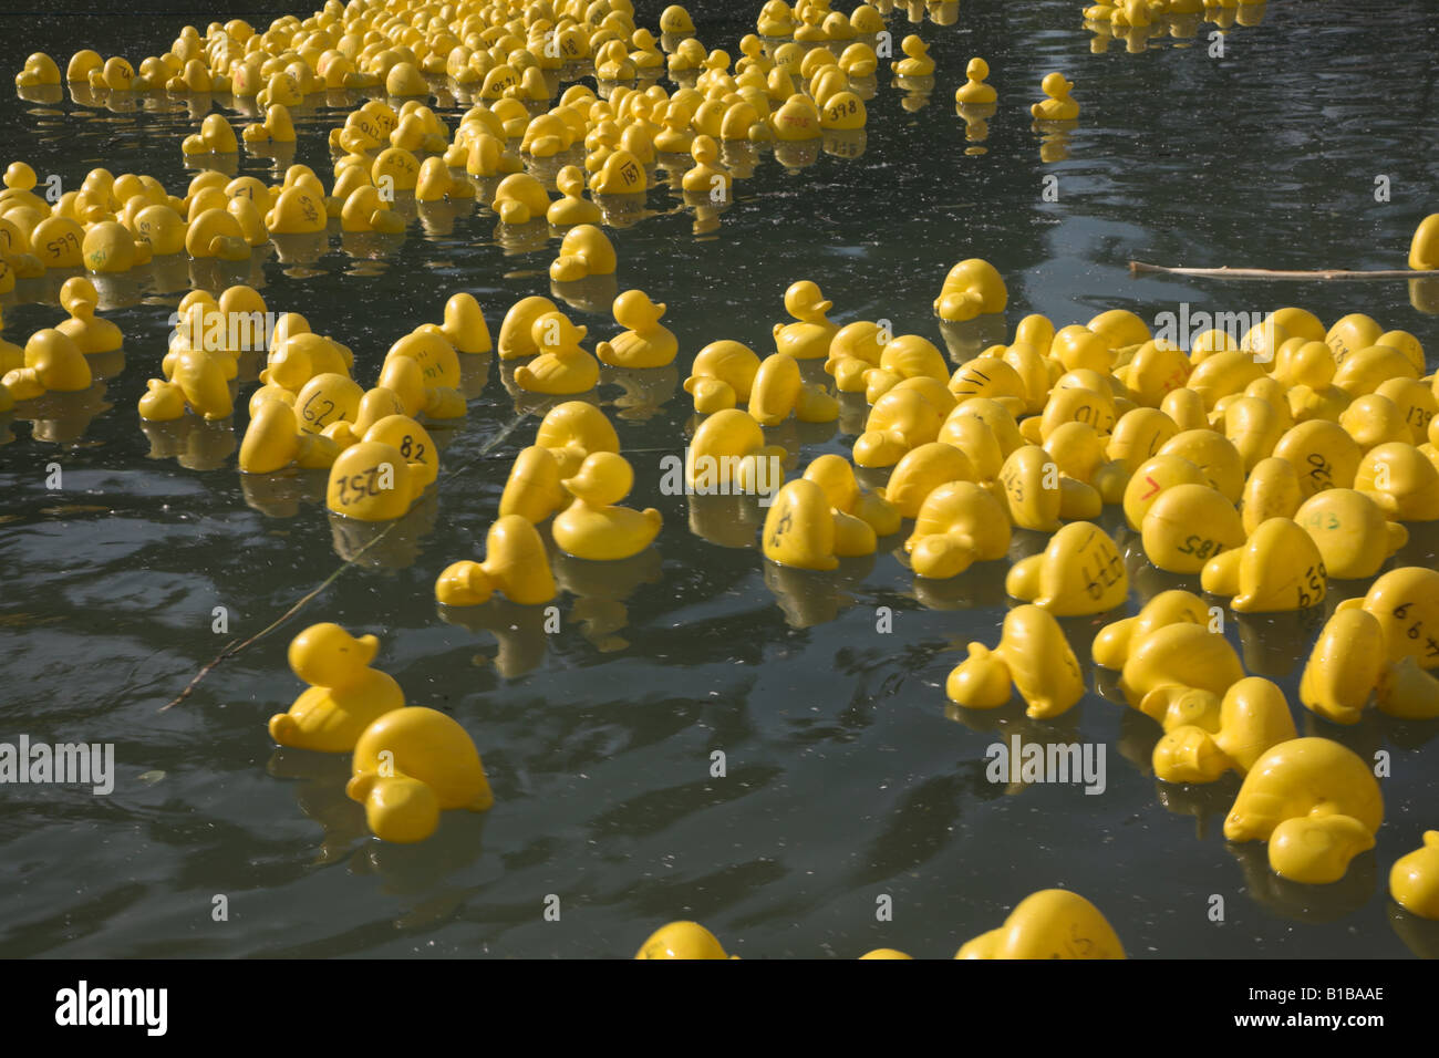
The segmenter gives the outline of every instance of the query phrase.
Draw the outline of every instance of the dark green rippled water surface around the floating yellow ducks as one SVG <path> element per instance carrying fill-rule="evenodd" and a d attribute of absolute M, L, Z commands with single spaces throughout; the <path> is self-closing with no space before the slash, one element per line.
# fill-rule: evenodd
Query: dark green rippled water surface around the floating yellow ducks
<path fill-rule="evenodd" d="M 640 22 L 653 26 L 661 7 L 639 4 Z M 743 9 L 743 19 L 692 10 L 701 39 L 737 55 L 758 3 L 724 7 Z M 1049 724 L 1026 721 L 1013 704 L 963 723 L 947 715 L 943 684 L 963 658 L 955 651 L 997 639 L 1004 563 L 917 592 L 889 554 L 898 537 L 839 576 L 783 574 L 753 547 L 757 521 L 751 531 L 734 511 L 699 511 L 720 527 L 707 531 L 748 544 L 724 547 L 691 531 L 686 498 L 659 494 L 659 461 L 684 449 L 691 419 L 678 390 L 688 358 L 718 338 L 767 353 L 784 288 L 800 278 L 820 284 L 839 321 L 884 317 L 895 333 L 940 343 L 931 302 L 944 273 L 983 256 L 1009 282 L 1009 330 L 1026 312 L 1062 325 L 1111 307 L 1153 320 L 1180 302 L 1297 304 L 1325 321 L 1363 311 L 1413 331 L 1433 367 L 1436 317 L 1415 311 L 1402 282 L 1220 285 L 1137 281 L 1127 269 L 1131 258 L 1403 266 L 1415 225 L 1433 209 L 1433 4 L 1274 0 L 1258 26 L 1227 35 L 1223 59 L 1207 55 L 1209 23 L 1191 40 L 1141 52 L 1117 42 L 1095 53 L 1079 7 L 970 0 L 957 24 L 914 27 L 901 7 L 889 27 L 896 39 L 917 29 L 932 42 L 937 86 L 928 105 L 909 109 L 882 73 L 862 157 L 820 154 L 796 171 L 764 157 L 702 236 L 684 212 L 612 230 L 619 288 L 665 301 L 681 338 L 673 389 L 650 393 L 648 409 L 602 389 L 636 468 L 629 502 L 658 507 L 665 528 L 637 563 L 558 570 L 567 590 L 555 635 L 504 605 L 476 610 L 475 628 L 446 623 L 433 602 L 446 564 L 479 557 L 509 461 L 532 436 L 530 420 L 476 461 L 515 416 L 492 366 L 448 440 L 452 474 L 406 525 L 301 618 L 157 713 L 229 639 L 266 626 L 355 544 L 317 502 L 322 475 L 288 491 L 242 481 L 227 449 L 243 435 L 249 387 L 233 440 L 201 438 L 197 459 L 165 455 L 174 442 L 160 432 L 147 436 L 135 400 L 158 374 L 167 317 L 190 279 L 181 271 L 118 291 L 130 304 L 106 315 L 125 333 L 124 370 L 88 404 L 62 407 L 58 425 L 16 420 L 0 448 L 0 738 L 114 743 L 118 767 L 111 796 L 33 786 L 0 795 L 0 953 L 629 956 L 662 923 L 696 918 L 745 957 L 853 957 L 878 946 L 945 957 L 1023 895 L 1056 885 L 1098 904 L 1131 956 L 1436 950 L 1432 924 L 1400 915 L 1386 880 L 1439 823 L 1439 725 L 1371 715 L 1337 728 L 1305 714 L 1295 687 L 1324 615 L 1229 622 L 1248 668 L 1278 679 L 1295 702 L 1301 733 L 1393 756 L 1377 849 L 1344 882 L 1305 888 L 1274 880 L 1262 846 L 1225 845 L 1236 782 L 1161 789 L 1148 767 L 1160 728 L 1115 701 L 1089 694 Z M 82 46 L 138 65 L 184 22 L 209 17 L 141 4 L 124 17 L 16 19 L 0 66 L 9 78 L 27 53 L 47 50 L 63 69 Z M 966 154 L 951 102 L 971 55 L 989 59 L 1000 94 L 984 154 Z M 1082 114 L 1066 157 L 1042 163 L 1027 107 L 1049 69 L 1076 82 Z M 94 166 L 151 173 L 171 190 L 187 178 L 178 141 L 200 114 L 184 102 L 112 112 L 3 96 L 3 161 L 24 158 L 42 178 L 58 173 L 72 184 Z M 296 160 L 327 180 L 324 134 L 353 105 L 296 111 Z M 445 112 L 453 122 L 462 109 Z M 266 160 L 243 151 L 240 171 L 275 178 Z M 1058 176 L 1058 202 L 1042 199 L 1046 174 Z M 1387 203 L 1374 200 L 1379 174 L 1392 181 Z M 650 196 L 656 210 L 675 204 L 668 189 Z M 439 321 L 452 292 L 473 292 L 498 331 L 511 302 L 550 292 L 557 246 L 509 252 L 495 216 L 476 206 L 450 223 L 412 223 L 403 242 L 337 236 L 314 265 L 269 259 L 230 281 L 252 282 L 272 309 L 299 311 L 350 344 L 355 377 L 368 384 L 389 345 Z M 6 337 L 23 341 L 62 318 L 56 286 L 17 291 L 45 304 L 9 295 Z M 607 315 L 571 318 L 591 341 L 617 330 Z M 853 415 L 845 428 L 774 433 L 803 445 L 803 466 L 846 452 Z M 46 489 L 52 462 L 63 468 L 59 491 Z M 1114 515 L 1107 524 L 1118 524 Z M 1017 534 L 1014 556 L 1042 543 Z M 1433 563 L 1435 534 L 1417 530 L 1396 559 Z M 1147 596 L 1170 582 L 1151 574 L 1135 586 Z M 1364 587 L 1333 584 L 1325 613 Z M 229 635 L 212 630 L 216 606 L 229 612 Z M 876 632 L 881 606 L 894 612 L 888 635 Z M 446 710 L 471 731 L 494 810 L 450 813 L 419 846 L 383 845 L 344 797 L 347 757 L 276 753 L 265 720 L 301 689 L 285 648 L 315 620 L 378 635 L 377 664 L 409 702 Z M 1066 622 L 1086 669 L 1101 623 Z M 486 630 L 495 626 L 507 636 L 498 661 Z M 986 747 L 1014 733 L 1102 744 L 1104 795 L 989 783 Z M 727 756 L 725 777 L 711 777 L 714 750 Z M 229 921 L 212 918 L 216 894 L 229 900 Z M 543 914 L 550 894 L 560 897 L 560 921 Z M 894 901 L 889 923 L 876 921 L 884 894 Z M 1215 894 L 1225 900 L 1222 924 L 1207 917 Z"/>

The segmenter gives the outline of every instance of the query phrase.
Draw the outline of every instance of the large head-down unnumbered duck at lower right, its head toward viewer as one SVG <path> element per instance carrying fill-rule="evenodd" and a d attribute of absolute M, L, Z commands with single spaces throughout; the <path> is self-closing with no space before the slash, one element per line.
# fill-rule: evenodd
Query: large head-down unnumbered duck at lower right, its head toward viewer
<path fill-rule="evenodd" d="M 1225 838 L 1266 841 L 1281 878 L 1324 885 L 1374 848 L 1384 799 L 1370 766 L 1328 738 L 1291 738 L 1250 767 L 1225 819 Z"/>

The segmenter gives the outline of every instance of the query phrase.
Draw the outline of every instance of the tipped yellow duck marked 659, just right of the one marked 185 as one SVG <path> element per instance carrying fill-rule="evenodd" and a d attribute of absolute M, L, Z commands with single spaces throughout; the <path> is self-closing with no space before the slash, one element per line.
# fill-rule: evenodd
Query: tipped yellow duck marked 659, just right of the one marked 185
<path fill-rule="evenodd" d="M 1328 590 L 1314 538 L 1289 518 L 1269 518 L 1243 547 L 1210 559 L 1200 574 L 1206 592 L 1233 596 L 1235 613 L 1305 610 Z"/>

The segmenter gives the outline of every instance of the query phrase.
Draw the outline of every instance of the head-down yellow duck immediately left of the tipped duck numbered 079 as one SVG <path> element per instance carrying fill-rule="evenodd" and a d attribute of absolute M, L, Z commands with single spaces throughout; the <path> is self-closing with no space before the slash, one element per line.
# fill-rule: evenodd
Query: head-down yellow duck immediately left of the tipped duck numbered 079
<path fill-rule="evenodd" d="M 1003 559 L 1009 543 L 1009 514 L 994 495 L 971 481 L 951 481 L 924 498 L 904 548 L 915 574 L 944 580 L 976 561 Z"/>

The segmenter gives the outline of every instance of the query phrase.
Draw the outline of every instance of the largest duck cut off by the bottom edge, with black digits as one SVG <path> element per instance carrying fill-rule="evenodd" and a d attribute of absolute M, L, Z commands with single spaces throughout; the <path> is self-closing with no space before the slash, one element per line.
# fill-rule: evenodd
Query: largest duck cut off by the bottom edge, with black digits
<path fill-rule="evenodd" d="M 1025 897 L 997 930 L 961 947 L 955 959 L 1124 959 L 1124 944 L 1094 904 L 1068 890 Z"/>

